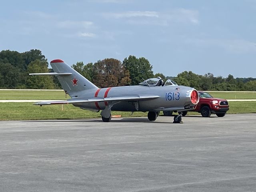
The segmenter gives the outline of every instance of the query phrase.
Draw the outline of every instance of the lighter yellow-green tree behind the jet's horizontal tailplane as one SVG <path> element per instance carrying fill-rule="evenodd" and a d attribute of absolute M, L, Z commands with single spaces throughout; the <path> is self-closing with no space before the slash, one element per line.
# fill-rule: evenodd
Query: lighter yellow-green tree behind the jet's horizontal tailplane
<path fill-rule="evenodd" d="M 28 65 L 28 73 L 48 72 L 48 63 L 36 59 Z M 52 76 L 29 76 L 26 85 L 30 89 L 54 89 L 55 85 Z"/>

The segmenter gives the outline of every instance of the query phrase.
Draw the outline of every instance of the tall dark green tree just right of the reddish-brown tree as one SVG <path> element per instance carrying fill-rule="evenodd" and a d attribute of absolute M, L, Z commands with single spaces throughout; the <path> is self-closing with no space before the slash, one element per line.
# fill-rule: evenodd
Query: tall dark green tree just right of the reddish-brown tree
<path fill-rule="evenodd" d="M 123 61 L 124 67 L 130 72 L 130 79 L 132 85 L 138 85 L 143 81 L 154 76 L 152 71 L 152 65 L 144 58 L 136 58 L 136 56 L 130 55 Z"/>

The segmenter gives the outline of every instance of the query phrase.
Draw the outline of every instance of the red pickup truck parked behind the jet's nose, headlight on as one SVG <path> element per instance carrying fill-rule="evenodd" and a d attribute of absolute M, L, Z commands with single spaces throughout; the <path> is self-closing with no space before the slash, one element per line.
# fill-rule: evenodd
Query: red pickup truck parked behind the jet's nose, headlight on
<path fill-rule="evenodd" d="M 215 113 L 218 117 L 224 117 L 229 110 L 228 101 L 225 99 L 213 98 L 210 94 L 203 91 L 198 91 L 199 102 L 194 106 L 195 112 L 201 113 L 203 117 L 210 117 L 212 113 Z M 187 111 L 182 112 L 182 116 L 185 116 Z M 164 116 L 171 116 L 172 111 L 164 111 Z"/>

